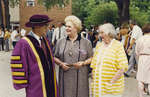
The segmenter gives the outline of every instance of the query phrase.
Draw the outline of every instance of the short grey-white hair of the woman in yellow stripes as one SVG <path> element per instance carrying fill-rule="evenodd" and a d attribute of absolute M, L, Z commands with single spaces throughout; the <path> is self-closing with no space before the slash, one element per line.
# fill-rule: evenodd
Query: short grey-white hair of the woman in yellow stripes
<path fill-rule="evenodd" d="M 109 35 L 111 38 L 115 38 L 116 30 L 111 23 L 106 23 L 99 26 L 99 31 Z"/>

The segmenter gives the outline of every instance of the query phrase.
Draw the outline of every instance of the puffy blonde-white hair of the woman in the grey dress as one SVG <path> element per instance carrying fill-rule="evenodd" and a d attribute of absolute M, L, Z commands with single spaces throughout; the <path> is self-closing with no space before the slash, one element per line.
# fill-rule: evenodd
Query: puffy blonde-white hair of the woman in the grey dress
<path fill-rule="evenodd" d="M 72 22 L 74 24 L 74 26 L 77 28 L 78 31 L 80 31 L 82 29 L 81 20 L 78 17 L 74 16 L 74 15 L 67 16 L 65 18 L 65 22 Z"/>

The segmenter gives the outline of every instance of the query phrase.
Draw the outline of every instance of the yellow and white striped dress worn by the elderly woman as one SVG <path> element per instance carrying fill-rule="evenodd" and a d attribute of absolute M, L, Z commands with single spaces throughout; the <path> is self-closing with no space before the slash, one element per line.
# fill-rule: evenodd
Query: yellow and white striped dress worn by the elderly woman
<path fill-rule="evenodd" d="M 124 90 L 124 75 L 115 83 L 110 84 L 111 79 L 119 69 L 128 69 L 128 61 L 123 45 L 113 39 L 109 46 L 104 48 L 104 43 L 98 43 L 92 59 L 92 97 L 103 95 L 121 95 Z"/>

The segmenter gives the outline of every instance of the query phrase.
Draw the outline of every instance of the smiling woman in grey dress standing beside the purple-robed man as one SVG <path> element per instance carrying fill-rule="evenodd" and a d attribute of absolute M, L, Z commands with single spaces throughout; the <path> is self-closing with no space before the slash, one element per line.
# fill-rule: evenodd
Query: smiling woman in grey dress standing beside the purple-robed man
<path fill-rule="evenodd" d="M 65 22 L 67 37 L 57 41 L 54 54 L 60 67 L 60 97 L 89 97 L 89 64 L 82 63 L 92 56 L 92 45 L 79 34 L 82 23 L 78 17 L 67 16 Z"/>

